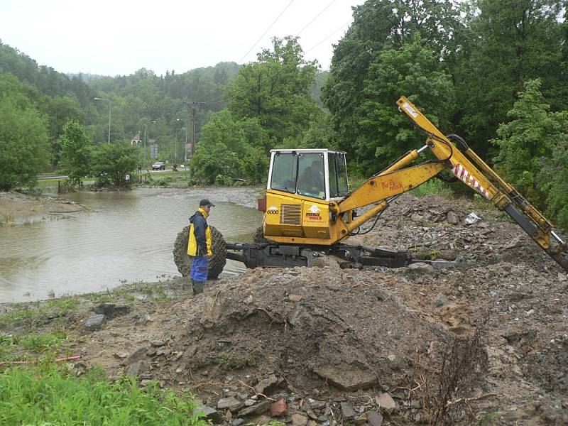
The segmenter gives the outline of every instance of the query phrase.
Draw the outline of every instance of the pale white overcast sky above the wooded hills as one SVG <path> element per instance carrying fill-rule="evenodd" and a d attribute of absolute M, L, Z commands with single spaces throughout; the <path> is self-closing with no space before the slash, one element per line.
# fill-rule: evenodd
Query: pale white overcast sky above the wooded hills
<path fill-rule="evenodd" d="M 353 21 L 351 6 L 363 3 L 0 0 L 0 40 L 60 72 L 114 76 L 251 62 L 272 37 L 299 35 L 305 58 L 327 70 L 332 45 Z"/>

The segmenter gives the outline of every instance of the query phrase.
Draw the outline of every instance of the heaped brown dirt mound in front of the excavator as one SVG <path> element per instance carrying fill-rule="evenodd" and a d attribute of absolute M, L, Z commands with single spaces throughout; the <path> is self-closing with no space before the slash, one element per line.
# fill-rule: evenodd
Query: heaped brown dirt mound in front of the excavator
<path fill-rule="evenodd" d="M 172 346 L 186 349 L 184 371 L 277 371 L 303 393 L 325 381 L 349 391 L 398 386 L 415 351 L 445 338 L 389 295 L 381 277 L 337 266 L 249 270 L 175 309 L 186 321 Z"/>

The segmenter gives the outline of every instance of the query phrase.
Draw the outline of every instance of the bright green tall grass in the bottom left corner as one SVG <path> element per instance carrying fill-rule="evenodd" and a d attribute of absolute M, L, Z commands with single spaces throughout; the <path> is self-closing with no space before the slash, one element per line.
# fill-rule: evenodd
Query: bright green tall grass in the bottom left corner
<path fill-rule="evenodd" d="M 112 383 L 102 370 L 75 377 L 53 363 L 8 368 L 0 375 L 1 425 L 206 426 L 191 395 L 178 397 L 156 383 L 138 388 L 134 378 Z"/>

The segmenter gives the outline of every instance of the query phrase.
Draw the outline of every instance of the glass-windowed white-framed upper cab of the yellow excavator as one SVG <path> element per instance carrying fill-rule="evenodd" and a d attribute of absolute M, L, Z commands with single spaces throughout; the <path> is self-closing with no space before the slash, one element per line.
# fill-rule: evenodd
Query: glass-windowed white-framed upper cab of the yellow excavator
<path fill-rule="evenodd" d="M 273 149 L 266 189 L 328 202 L 343 200 L 348 195 L 345 153 Z"/>

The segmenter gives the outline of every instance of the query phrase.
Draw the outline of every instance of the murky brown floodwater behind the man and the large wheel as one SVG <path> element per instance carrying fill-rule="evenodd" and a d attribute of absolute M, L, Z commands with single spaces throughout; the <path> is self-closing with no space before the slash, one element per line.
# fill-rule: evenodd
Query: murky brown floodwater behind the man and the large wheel
<path fill-rule="evenodd" d="M 227 241 L 250 241 L 261 212 L 206 194 L 216 206 L 209 224 Z M 0 227 L 0 302 L 91 293 L 124 281 L 179 275 L 173 243 L 203 197 L 202 190 L 84 192 L 67 198 L 93 212 Z M 219 198 L 231 200 L 226 194 Z M 226 273 L 239 271 L 244 271 L 241 263 L 227 261 Z"/>

